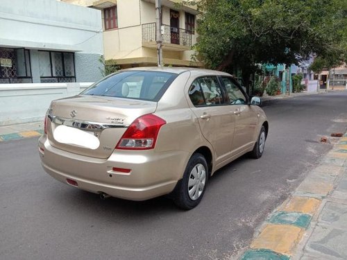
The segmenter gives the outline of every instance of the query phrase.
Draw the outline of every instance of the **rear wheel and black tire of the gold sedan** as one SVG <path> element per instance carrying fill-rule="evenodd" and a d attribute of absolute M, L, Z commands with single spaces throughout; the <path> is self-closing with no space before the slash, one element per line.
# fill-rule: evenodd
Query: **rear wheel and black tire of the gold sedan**
<path fill-rule="evenodd" d="M 190 157 L 182 180 L 174 190 L 174 202 L 181 209 L 193 209 L 203 198 L 208 182 L 208 164 L 205 157 L 195 153 Z"/>

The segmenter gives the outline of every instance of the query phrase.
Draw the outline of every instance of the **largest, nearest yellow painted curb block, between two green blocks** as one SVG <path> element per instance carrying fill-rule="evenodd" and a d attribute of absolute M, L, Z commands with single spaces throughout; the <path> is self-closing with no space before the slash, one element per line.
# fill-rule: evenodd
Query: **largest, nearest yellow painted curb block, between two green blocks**
<path fill-rule="evenodd" d="M 291 225 L 266 225 L 251 244 L 252 249 L 268 249 L 291 256 L 301 241 L 304 229 Z"/>

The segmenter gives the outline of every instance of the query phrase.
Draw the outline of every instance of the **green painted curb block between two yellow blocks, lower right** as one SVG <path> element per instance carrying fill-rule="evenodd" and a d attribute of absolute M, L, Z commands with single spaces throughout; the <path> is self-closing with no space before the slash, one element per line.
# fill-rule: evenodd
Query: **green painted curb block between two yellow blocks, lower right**
<path fill-rule="evenodd" d="M 310 215 L 303 213 L 278 211 L 271 216 L 269 223 L 307 228 L 310 225 L 311 218 Z"/>

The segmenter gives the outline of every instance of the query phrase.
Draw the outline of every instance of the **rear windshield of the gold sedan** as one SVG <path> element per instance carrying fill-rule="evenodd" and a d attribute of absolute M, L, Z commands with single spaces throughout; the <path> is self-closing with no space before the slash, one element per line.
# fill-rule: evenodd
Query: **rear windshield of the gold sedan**
<path fill-rule="evenodd" d="M 161 71 L 121 71 L 82 92 L 82 95 L 159 101 L 177 74 Z"/>

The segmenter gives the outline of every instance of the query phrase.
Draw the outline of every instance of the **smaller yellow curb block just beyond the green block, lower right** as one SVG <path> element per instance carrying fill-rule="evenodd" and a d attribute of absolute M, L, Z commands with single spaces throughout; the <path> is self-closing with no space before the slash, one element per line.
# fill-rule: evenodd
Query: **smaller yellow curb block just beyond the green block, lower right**
<path fill-rule="evenodd" d="M 304 214 L 314 215 L 316 210 L 321 205 L 321 200 L 316 198 L 292 197 L 282 211 L 301 212 Z"/>

